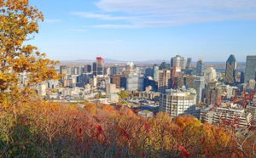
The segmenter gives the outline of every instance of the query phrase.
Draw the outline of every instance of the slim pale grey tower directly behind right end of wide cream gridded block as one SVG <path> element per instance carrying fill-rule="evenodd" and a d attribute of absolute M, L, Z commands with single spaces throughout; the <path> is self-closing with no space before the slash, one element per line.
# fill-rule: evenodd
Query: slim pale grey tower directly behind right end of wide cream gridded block
<path fill-rule="evenodd" d="M 195 77 L 194 88 L 196 91 L 196 104 L 198 104 L 202 101 L 203 89 L 205 88 L 205 78 L 203 76 Z"/>

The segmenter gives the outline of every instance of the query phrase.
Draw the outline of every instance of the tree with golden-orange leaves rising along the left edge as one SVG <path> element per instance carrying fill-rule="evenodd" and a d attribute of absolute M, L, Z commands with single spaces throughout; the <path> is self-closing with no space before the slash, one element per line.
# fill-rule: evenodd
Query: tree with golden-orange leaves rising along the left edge
<path fill-rule="evenodd" d="M 24 42 L 38 33 L 42 12 L 28 0 L 0 0 L 0 104 L 8 106 L 16 99 L 27 99 L 32 85 L 56 79 L 54 65 L 44 53 Z M 26 76 L 26 83 L 20 76 Z"/>

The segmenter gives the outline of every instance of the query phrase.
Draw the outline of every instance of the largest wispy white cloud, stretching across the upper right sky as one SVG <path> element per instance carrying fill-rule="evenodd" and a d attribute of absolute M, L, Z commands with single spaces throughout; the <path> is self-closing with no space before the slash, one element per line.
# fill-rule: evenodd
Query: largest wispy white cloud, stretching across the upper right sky
<path fill-rule="evenodd" d="M 125 20 L 131 25 L 96 25 L 99 28 L 184 25 L 222 20 L 256 20 L 255 0 L 101 0 L 96 6 L 106 14 L 86 18 Z M 108 14 L 126 14 L 118 17 Z"/>

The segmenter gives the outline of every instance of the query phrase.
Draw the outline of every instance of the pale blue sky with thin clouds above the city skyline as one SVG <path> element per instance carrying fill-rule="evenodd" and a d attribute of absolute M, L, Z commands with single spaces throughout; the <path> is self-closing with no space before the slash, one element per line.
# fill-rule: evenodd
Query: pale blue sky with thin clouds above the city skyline
<path fill-rule="evenodd" d="M 237 61 L 256 55 L 255 0 L 31 0 L 44 13 L 29 41 L 49 59 Z"/>

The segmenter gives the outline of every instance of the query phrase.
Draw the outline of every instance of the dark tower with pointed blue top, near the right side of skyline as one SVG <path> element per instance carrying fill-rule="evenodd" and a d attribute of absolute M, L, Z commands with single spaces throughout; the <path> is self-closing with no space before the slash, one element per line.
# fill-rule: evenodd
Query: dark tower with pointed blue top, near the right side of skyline
<path fill-rule="evenodd" d="M 225 82 L 230 85 L 234 85 L 236 82 L 236 58 L 233 54 L 226 62 Z"/>

